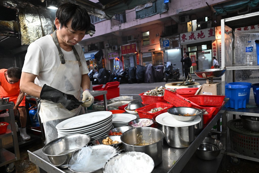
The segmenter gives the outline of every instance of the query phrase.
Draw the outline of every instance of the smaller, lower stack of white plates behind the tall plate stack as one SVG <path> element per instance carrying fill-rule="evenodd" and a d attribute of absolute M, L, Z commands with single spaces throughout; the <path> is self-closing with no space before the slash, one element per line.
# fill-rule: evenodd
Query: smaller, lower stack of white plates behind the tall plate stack
<path fill-rule="evenodd" d="M 136 118 L 137 116 L 132 114 L 112 114 L 112 125 L 114 127 L 128 126 L 128 122 Z"/>

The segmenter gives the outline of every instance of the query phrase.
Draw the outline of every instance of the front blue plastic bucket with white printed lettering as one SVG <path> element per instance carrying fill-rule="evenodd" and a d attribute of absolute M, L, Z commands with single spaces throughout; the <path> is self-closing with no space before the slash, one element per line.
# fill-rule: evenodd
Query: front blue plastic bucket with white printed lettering
<path fill-rule="evenodd" d="M 225 95 L 229 98 L 228 107 L 246 108 L 247 88 L 246 85 L 225 85 Z"/>

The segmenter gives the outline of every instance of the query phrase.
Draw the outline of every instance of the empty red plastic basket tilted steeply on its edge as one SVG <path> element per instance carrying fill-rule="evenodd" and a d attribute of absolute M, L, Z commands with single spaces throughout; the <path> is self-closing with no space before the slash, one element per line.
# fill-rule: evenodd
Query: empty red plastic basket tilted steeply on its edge
<path fill-rule="evenodd" d="M 191 102 L 177 93 L 169 91 L 168 89 L 165 89 L 164 91 L 164 99 L 176 107 L 193 107 L 203 109 L 201 106 Z"/>

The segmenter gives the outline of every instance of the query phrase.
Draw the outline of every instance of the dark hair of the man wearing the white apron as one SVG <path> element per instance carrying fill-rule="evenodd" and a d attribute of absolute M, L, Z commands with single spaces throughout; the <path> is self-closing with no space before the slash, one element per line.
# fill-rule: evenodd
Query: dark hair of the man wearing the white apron
<path fill-rule="evenodd" d="M 61 28 L 67 27 L 67 23 L 72 20 L 71 28 L 75 31 L 87 31 L 91 24 L 87 10 L 83 6 L 69 2 L 59 6 L 56 18 L 59 19 Z"/>

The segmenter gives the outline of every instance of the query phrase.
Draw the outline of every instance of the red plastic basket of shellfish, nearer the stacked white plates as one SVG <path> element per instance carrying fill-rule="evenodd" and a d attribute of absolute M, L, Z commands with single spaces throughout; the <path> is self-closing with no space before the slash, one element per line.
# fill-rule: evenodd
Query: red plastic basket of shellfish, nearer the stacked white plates
<path fill-rule="evenodd" d="M 161 107 L 161 108 L 167 107 L 167 108 L 163 109 L 163 110 L 160 110 L 158 112 L 155 112 L 155 113 L 148 113 L 148 111 L 150 111 L 151 109 L 158 108 L 158 107 Z M 156 115 L 167 112 L 167 109 L 169 109 L 171 107 L 174 107 L 174 106 L 171 105 L 171 104 L 168 104 L 168 103 L 153 103 L 153 104 L 150 104 L 148 106 L 138 108 L 138 109 L 136 109 L 136 111 L 138 112 L 140 118 L 152 119 L 153 116 L 156 116 Z"/>

